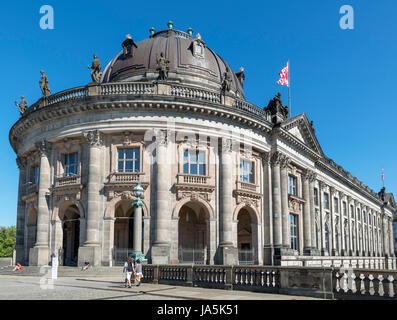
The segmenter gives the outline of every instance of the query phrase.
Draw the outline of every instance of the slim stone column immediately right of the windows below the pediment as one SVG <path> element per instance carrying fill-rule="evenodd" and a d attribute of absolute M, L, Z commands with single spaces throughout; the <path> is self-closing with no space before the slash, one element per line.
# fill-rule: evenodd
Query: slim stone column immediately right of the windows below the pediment
<path fill-rule="evenodd" d="M 303 199 L 305 204 L 303 206 L 303 250 L 305 254 L 310 255 L 312 249 L 312 228 L 311 228 L 311 216 L 310 216 L 310 176 L 311 171 L 305 170 L 302 175 L 303 179 Z"/>

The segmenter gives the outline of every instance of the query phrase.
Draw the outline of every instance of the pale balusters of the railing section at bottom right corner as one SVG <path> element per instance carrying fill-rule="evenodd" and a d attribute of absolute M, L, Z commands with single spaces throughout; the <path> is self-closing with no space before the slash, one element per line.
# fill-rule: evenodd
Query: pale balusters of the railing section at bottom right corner
<path fill-rule="evenodd" d="M 338 299 L 397 299 L 397 271 L 341 268 L 332 276 Z"/>

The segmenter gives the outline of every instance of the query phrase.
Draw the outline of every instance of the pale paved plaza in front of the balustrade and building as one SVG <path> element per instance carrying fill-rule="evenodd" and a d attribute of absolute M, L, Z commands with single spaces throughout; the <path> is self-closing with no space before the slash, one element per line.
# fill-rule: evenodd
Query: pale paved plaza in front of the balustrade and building
<path fill-rule="evenodd" d="M 124 288 L 122 275 L 46 279 L 0 275 L 0 300 L 317 300 L 280 294 L 155 285 Z"/>

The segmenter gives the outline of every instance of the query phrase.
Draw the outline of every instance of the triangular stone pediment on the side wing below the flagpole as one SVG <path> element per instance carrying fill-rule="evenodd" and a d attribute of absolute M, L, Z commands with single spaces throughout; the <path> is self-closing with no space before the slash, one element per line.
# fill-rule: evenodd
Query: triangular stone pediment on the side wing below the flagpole
<path fill-rule="evenodd" d="M 286 130 L 290 135 L 304 143 L 317 154 L 324 156 L 323 150 L 317 140 L 315 130 L 309 123 L 305 113 L 293 116 L 281 124 L 281 128 Z"/>

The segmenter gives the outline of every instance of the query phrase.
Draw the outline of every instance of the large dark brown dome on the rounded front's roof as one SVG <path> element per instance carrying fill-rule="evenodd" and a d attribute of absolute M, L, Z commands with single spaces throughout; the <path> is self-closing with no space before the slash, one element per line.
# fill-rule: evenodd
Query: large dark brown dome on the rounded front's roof
<path fill-rule="evenodd" d="M 167 81 L 220 90 L 223 74 L 230 70 L 230 93 L 244 97 L 243 72 L 232 72 L 228 64 L 207 47 L 198 34 L 173 29 L 153 33 L 135 43 L 130 35 L 122 43 L 123 50 L 107 65 L 102 83 L 122 81 L 155 81 L 159 78 L 157 59 L 168 63 Z"/>

